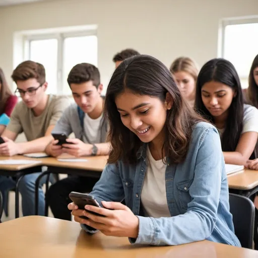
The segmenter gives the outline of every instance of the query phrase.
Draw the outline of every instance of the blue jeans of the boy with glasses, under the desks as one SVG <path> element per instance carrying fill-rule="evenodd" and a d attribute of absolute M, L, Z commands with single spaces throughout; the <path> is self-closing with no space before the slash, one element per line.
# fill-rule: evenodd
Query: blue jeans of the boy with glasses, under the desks
<path fill-rule="evenodd" d="M 23 216 L 35 215 L 35 181 L 41 174 L 32 173 L 25 175 L 19 183 L 19 192 L 22 196 L 22 213 Z M 45 195 L 42 190 L 42 185 L 46 182 L 46 175 L 43 176 L 39 183 L 38 190 L 38 215 L 44 216 L 45 211 Z M 50 176 L 50 182 L 53 183 L 53 177 Z M 3 195 L 3 202 L 5 207 L 6 195 L 8 191 L 15 188 L 16 181 L 12 177 L 0 176 L 0 190 Z"/>

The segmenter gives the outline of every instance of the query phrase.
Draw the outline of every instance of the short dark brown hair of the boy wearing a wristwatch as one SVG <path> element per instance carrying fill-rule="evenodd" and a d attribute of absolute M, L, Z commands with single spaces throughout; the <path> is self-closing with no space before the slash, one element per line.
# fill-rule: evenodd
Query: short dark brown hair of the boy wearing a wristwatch
<path fill-rule="evenodd" d="M 70 88 L 72 83 L 81 84 L 89 81 L 92 81 L 97 88 L 100 85 L 99 70 L 93 64 L 87 62 L 76 64 L 67 78 Z"/>

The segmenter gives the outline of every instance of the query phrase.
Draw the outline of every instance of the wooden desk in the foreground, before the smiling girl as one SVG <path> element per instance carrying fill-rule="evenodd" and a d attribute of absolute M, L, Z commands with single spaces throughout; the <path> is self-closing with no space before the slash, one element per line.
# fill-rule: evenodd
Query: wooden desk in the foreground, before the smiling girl
<path fill-rule="evenodd" d="M 130 258 L 254 258 L 258 251 L 210 241 L 178 246 L 131 245 L 125 237 L 102 233 L 88 235 L 76 222 L 28 216 L 0 224 L 0 256 L 34 257 L 130 257 Z"/>

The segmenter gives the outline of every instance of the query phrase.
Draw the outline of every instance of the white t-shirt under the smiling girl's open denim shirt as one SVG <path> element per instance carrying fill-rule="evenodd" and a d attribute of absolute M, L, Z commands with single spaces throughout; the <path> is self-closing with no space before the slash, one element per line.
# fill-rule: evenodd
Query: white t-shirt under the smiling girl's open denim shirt
<path fill-rule="evenodd" d="M 165 170 L 162 160 L 155 160 L 147 147 L 148 167 L 144 178 L 141 201 L 146 217 L 171 217 L 166 195 Z"/>

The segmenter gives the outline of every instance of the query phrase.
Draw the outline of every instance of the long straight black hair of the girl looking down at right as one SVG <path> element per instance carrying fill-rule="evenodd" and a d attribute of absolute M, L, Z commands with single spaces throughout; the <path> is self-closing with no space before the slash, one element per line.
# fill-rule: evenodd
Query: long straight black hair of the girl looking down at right
<path fill-rule="evenodd" d="M 243 95 L 233 64 L 223 58 L 212 59 L 204 64 L 197 78 L 196 109 L 203 117 L 214 123 L 213 116 L 202 100 L 202 87 L 211 81 L 223 83 L 236 92 L 229 107 L 225 131 L 221 139 L 223 151 L 235 151 L 243 128 Z"/>

